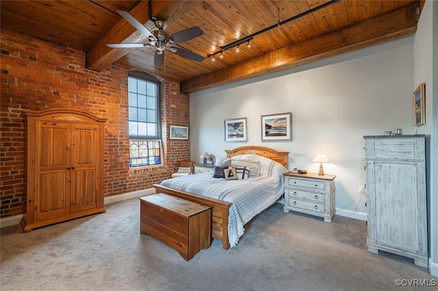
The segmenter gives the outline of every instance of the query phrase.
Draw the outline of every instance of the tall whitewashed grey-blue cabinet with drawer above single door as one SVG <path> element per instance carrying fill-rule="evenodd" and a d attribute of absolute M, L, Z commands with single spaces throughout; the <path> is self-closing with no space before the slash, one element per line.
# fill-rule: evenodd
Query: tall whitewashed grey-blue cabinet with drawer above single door
<path fill-rule="evenodd" d="M 424 135 L 365 136 L 368 251 L 428 267 Z"/>

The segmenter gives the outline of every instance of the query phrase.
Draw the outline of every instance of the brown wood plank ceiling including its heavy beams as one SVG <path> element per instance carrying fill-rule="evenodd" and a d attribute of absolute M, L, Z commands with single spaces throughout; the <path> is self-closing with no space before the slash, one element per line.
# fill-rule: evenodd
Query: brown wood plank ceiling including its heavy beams
<path fill-rule="evenodd" d="M 366 46 L 411 36 L 424 0 L 268 1 L 10 1 L 2 0 L 1 27 L 84 51 L 86 66 L 103 70 L 115 61 L 181 81 L 181 91 L 195 92 L 268 72 L 292 68 Z M 283 21 L 315 9 L 283 25 Z M 171 35 L 197 25 L 203 36 L 181 46 L 206 59 L 184 59 L 166 51 L 164 66 L 154 68 L 155 48 L 110 48 L 106 44 L 146 42 L 116 11 L 125 10 L 150 30 L 151 14 L 168 24 Z M 259 33 L 267 27 L 268 31 Z M 253 36 L 240 53 L 227 44 Z M 209 57 L 208 57 L 209 56 Z"/>

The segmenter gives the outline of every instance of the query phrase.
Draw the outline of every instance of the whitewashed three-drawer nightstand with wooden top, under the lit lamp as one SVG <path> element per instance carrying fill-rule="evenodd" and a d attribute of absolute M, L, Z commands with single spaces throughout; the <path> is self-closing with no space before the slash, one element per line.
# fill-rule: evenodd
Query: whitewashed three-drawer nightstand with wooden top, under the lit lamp
<path fill-rule="evenodd" d="M 289 171 L 285 179 L 285 206 L 293 210 L 324 217 L 331 222 L 335 215 L 335 175 L 298 174 Z"/>

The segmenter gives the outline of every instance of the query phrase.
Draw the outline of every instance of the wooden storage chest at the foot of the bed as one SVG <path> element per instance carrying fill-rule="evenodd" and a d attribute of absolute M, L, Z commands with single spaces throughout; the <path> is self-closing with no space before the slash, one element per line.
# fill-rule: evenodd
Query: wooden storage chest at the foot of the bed
<path fill-rule="evenodd" d="M 159 193 L 140 198 L 140 233 L 190 260 L 211 245 L 211 207 Z"/>

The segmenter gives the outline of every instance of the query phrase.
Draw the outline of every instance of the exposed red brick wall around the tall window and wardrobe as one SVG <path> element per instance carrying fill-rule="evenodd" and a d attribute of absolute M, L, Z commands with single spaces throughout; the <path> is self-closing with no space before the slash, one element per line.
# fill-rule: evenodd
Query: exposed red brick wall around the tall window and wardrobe
<path fill-rule="evenodd" d="M 189 126 L 189 98 L 179 82 L 162 82 L 164 165 L 129 169 L 127 74 L 112 64 L 85 68 L 86 54 L 1 27 L 0 217 L 23 213 L 27 191 L 27 124 L 24 111 L 70 108 L 107 117 L 105 196 L 151 187 L 168 178 L 177 161 L 190 158 L 190 139 L 169 140 L 169 125 Z"/>

